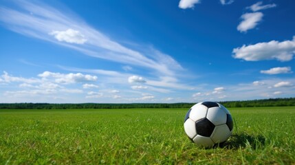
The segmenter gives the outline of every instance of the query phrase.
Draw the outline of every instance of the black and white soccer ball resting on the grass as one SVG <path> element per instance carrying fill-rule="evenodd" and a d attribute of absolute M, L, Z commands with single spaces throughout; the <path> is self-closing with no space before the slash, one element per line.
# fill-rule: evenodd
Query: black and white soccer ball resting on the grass
<path fill-rule="evenodd" d="M 234 125 L 230 111 L 217 102 L 199 102 L 188 110 L 184 131 L 199 146 L 226 142 Z"/>

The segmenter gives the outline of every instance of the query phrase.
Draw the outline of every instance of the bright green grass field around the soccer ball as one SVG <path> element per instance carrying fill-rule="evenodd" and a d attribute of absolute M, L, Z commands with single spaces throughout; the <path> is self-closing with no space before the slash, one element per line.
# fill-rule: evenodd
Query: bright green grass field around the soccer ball
<path fill-rule="evenodd" d="M 229 109 L 233 135 L 200 148 L 188 109 L 0 109 L 0 164 L 295 164 L 295 107 Z"/>

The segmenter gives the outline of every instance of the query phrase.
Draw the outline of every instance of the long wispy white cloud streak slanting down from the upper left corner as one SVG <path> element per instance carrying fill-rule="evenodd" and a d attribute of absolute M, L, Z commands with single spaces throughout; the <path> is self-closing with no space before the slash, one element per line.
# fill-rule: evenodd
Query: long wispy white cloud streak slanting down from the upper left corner
<path fill-rule="evenodd" d="M 87 56 L 144 67 L 156 74 L 174 76 L 182 71 L 181 65 L 171 56 L 157 58 L 159 55 L 156 52 L 159 51 L 153 51 L 149 46 L 140 46 L 140 49 L 124 46 L 87 25 L 76 14 L 67 12 L 69 10 L 58 10 L 42 1 L 18 1 L 15 5 L 17 8 L 0 8 L 0 21 L 6 28 L 19 34 L 56 43 Z M 171 63 L 171 59 L 174 63 Z"/>

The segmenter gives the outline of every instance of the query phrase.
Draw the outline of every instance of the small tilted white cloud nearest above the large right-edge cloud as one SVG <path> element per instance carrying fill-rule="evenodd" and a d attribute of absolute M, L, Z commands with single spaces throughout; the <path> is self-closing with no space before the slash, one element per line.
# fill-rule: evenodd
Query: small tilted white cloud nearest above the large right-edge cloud
<path fill-rule="evenodd" d="M 245 13 L 241 16 L 241 23 L 238 25 L 239 32 L 247 32 L 256 27 L 263 17 L 262 12 Z"/>

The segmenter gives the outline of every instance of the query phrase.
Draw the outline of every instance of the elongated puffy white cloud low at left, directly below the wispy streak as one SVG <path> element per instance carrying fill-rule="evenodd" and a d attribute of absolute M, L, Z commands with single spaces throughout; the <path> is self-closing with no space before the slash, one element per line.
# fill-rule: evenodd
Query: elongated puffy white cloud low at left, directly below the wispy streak
<path fill-rule="evenodd" d="M 91 76 L 89 74 L 61 74 L 61 73 L 54 73 L 54 72 L 43 72 L 43 74 L 38 75 L 41 78 L 54 78 L 56 83 L 83 83 L 89 81 L 96 81 L 98 78 L 97 76 Z"/>

